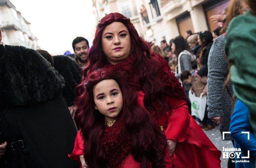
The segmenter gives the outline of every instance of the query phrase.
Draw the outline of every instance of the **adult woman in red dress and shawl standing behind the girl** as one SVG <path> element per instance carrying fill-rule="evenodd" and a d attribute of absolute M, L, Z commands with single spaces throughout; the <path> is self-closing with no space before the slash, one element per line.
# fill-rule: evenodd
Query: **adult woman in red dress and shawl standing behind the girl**
<path fill-rule="evenodd" d="M 83 82 L 77 87 L 78 108 L 83 107 L 79 100 L 85 93 L 86 77 L 102 67 L 123 71 L 127 84 L 138 92 L 139 105 L 152 113 L 165 131 L 176 168 L 220 167 L 221 152 L 189 115 L 180 82 L 164 58 L 150 52 L 130 19 L 120 13 L 108 14 L 97 25 Z"/>

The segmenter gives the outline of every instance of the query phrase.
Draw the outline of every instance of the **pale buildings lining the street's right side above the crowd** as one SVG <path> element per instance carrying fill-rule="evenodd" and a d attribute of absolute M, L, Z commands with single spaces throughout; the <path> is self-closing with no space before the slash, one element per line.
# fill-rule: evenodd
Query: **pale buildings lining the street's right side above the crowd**
<path fill-rule="evenodd" d="M 156 45 L 178 35 L 184 37 L 186 30 L 212 32 L 217 24 L 209 17 L 228 4 L 229 0 L 93 0 L 97 21 L 111 12 L 122 13 L 141 37 Z"/>

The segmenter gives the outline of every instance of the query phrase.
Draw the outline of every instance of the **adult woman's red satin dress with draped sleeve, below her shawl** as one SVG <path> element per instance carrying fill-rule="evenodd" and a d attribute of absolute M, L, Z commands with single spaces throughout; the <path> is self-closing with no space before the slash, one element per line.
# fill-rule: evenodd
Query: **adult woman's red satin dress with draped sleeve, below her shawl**
<path fill-rule="evenodd" d="M 170 111 L 167 112 L 168 124 L 165 134 L 167 139 L 177 142 L 171 156 L 173 165 L 187 168 L 220 168 L 221 152 L 189 114 L 186 101 L 171 97 L 166 100 Z"/>

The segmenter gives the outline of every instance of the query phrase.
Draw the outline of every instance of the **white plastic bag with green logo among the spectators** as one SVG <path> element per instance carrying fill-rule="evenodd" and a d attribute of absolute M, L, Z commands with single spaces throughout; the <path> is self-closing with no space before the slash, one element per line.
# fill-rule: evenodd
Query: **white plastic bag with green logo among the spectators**
<path fill-rule="evenodd" d="M 196 116 L 201 121 L 204 119 L 204 113 L 206 108 L 206 95 L 200 95 L 200 97 L 196 97 L 195 93 L 191 93 L 189 91 L 189 100 L 191 102 L 191 116 Z"/>

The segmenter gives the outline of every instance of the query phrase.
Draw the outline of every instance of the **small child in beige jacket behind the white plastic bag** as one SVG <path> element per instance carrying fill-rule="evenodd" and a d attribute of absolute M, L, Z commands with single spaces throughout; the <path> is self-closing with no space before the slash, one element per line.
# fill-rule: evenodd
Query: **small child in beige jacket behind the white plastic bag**
<path fill-rule="evenodd" d="M 192 70 L 192 74 L 195 74 L 193 71 L 194 70 Z M 188 70 L 184 70 L 180 75 L 180 79 L 183 83 L 191 84 L 190 90 L 192 93 L 195 92 L 196 97 L 200 97 L 201 94 L 206 95 L 207 79 L 208 79 L 207 76 L 202 76 L 201 78 L 198 78 L 196 76 L 192 76 Z M 206 109 L 207 109 L 207 106 L 206 106 Z M 214 123 L 210 119 L 208 119 L 207 110 L 205 110 L 203 121 L 200 121 L 199 119 L 197 120 L 200 123 L 199 126 L 205 131 L 211 130 L 215 127 Z"/>

